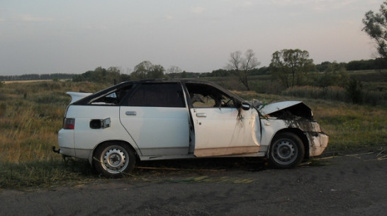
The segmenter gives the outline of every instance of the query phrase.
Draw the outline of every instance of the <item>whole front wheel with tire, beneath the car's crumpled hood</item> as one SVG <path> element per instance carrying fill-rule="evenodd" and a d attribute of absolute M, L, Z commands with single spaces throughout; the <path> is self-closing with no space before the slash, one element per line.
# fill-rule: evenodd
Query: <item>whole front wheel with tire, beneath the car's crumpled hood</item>
<path fill-rule="evenodd" d="M 279 169 L 292 168 L 301 163 L 305 147 L 300 137 L 291 132 L 274 136 L 269 149 L 269 162 Z"/>

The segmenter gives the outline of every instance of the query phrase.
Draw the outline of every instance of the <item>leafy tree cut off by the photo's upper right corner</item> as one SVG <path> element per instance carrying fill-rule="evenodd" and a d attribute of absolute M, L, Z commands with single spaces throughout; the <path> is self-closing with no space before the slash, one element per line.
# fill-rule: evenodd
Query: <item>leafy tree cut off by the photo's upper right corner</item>
<path fill-rule="evenodd" d="M 387 60 L 387 1 L 383 1 L 380 13 L 366 12 L 363 18 L 364 30 L 376 42 L 378 54 Z"/>

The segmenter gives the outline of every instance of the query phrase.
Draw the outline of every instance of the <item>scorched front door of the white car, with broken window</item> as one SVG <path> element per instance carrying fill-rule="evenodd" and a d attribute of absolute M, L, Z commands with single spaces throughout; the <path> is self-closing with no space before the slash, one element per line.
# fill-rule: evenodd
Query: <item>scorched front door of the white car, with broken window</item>
<path fill-rule="evenodd" d="M 237 108 L 234 98 L 208 84 L 186 84 L 195 130 L 196 157 L 257 153 L 257 110 Z"/>

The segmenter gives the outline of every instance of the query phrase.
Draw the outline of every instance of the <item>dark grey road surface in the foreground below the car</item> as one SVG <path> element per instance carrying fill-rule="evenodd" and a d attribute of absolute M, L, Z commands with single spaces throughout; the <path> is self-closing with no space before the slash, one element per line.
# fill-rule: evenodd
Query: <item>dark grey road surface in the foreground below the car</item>
<path fill-rule="evenodd" d="M 314 161 L 323 166 L 288 170 L 241 159 L 164 161 L 172 169 L 136 169 L 131 180 L 2 191 L 0 215 L 386 215 L 380 153 L 325 154 Z"/>

